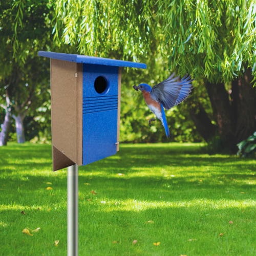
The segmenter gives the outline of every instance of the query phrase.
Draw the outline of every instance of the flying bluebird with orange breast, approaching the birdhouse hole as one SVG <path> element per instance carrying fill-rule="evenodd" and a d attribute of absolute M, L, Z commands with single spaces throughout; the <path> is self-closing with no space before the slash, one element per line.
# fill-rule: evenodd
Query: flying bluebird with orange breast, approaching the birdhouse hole
<path fill-rule="evenodd" d="M 136 91 L 140 90 L 143 93 L 148 108 L 161 120 L 168 138 L 170 137 L 170 132 L 164 109 L 169 110 L 186 99 L 193 89 L 191 82 L 195 80 L 190 80 L 191 76 L 187 77 L 186 74 L 181 80 L 176 81 L 180 76 L 173 78 L 174 76 L 175 73 L 170 75 L 166 80 L 156 84 L 153 88 L 146 83 L 133 86 Z M 151 118 L 148 121 L 150 126 L 152 121 L 156 121 L 156 119 Z"/>

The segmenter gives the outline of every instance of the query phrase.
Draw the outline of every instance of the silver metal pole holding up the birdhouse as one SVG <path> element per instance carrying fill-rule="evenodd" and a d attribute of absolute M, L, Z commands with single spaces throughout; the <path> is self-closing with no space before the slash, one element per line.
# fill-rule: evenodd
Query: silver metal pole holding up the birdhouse
<path fill-rule="evenodd" d="M 78 256 L 78 165 L 68 167 L 68 256 Z"/>

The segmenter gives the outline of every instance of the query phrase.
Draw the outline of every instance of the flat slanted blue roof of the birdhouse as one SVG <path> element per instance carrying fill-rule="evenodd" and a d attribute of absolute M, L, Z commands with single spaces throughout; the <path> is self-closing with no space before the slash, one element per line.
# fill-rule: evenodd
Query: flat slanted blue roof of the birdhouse
<path fill-rule="evenodd" d="M 52 59 L 67 60 L 67 61 L 71 61 L 71 62 L 79 62 L 79 63 L 146 69 L 146 65 L 144 63 L 137 63 L 137 62 L 132 62 L 132 61 L 117 60 L 117 59 L 107 59 L 107 58 L 100 58 L 100 57 L 92 57 L 92 56 L 86 56 L 86 55 L 39 51 L 38 56 L 52 58 Z"/>

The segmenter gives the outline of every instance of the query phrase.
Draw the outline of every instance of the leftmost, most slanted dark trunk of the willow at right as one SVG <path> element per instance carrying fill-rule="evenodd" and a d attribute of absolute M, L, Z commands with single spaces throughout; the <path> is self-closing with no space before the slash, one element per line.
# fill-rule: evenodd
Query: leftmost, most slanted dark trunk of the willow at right
<path fill-rule="evenodd" d="M 197 131 L 206 142 L 216 135 L 216 125 L 211 123 L 210 118 L 200 102 L 194 107 L 190 105 L 189 114 L 197 127 Z"/>

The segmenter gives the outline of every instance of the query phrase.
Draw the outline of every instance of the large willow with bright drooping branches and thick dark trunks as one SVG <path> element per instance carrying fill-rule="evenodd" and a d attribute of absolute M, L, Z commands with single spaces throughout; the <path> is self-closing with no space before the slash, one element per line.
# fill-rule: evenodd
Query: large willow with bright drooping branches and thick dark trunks
<path fill-rule="evenodd" d="M 57 0 L 55 10 L 58 44 L 125 60 L 161 53 L 170 70 L 202 81 L 216 124 L 196 99 L 190 114 L 206 141 L 217 132 L 234 153 L 256 130 L 255 0 Z"/>

